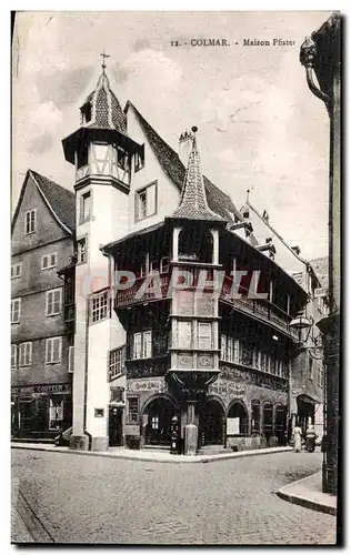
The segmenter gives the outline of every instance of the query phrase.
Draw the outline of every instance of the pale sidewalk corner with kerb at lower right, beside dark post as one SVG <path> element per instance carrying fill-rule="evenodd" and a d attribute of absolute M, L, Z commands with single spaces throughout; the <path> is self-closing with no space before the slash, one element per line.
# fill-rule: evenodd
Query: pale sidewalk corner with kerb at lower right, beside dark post
<path fill-rule="evenodd" d="M 321 472 L 281 487 L 281 490 L 278 490 L 277 495 L 290 503 L 302 505 L 320 513 L 337 515 L 337 495 L 322 492 Z"/>

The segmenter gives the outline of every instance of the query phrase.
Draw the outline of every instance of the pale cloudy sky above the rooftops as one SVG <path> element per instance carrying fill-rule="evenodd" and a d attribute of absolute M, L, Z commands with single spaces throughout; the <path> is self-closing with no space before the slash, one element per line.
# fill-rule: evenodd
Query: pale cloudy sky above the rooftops
<path fill-rule="evenodd" d="M 250 201 L 305 259 L 328 254 L 329 118 L 299 61 L 329 11 L 20 12 L 12 48 L 12 211 L 28 169 L 73 190 L 61 140 L 80 125 L 104 50 L 111 88 L 178 150 L 199 128 L 203 173 Z M 191 39 L 227 47 L 192 47 Z M 244 47 L 243 39 L 294 41 Z M 171 46 L 171 41 L 181 46 Z M 235 44 L 238 42 L 238 44 Z M 187 43 L 187 44 L 184 44 Z"/>

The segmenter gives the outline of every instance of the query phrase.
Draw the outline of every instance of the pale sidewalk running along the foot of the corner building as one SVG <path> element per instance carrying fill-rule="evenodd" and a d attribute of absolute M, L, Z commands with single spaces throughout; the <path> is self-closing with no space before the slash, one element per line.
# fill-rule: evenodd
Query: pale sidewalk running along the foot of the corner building
<path fill-rule="evenodd" d="M 244 456 L 268 455 L 270 453 L 283 453 L 292 451 L 292 447 L 271 447 L 265 450 L 239 451 L 237 453 L 220 453 L 217 455 L 171 455 L 164 451 L 140 450 L 133 451 L 123 447 L 111 447 L 109 451 L 74 451 L 69 447 L 56 447 L 54 445 L 38 443 L 11 443 L 12 448 L 49 451 L 53 453 L 76 453 L 84 456 L 104 456 L 110 458 L 127 458 L 130 461 L 148 461 L 153 463 L 211 463 L 227 461 L 228 458 L 241 458 Z"/>

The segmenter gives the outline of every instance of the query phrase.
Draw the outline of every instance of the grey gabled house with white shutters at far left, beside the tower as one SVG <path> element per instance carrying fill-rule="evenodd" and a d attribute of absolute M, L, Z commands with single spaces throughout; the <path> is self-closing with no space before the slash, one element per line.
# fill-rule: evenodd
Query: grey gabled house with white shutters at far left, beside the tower
<path fill-rule="evenodd" d="M 73 254 L 74 194 L 29 170 L 12 221 L 11 432 L 44 438 L 71 424 L 70 352 L 58 269 Z"/>

